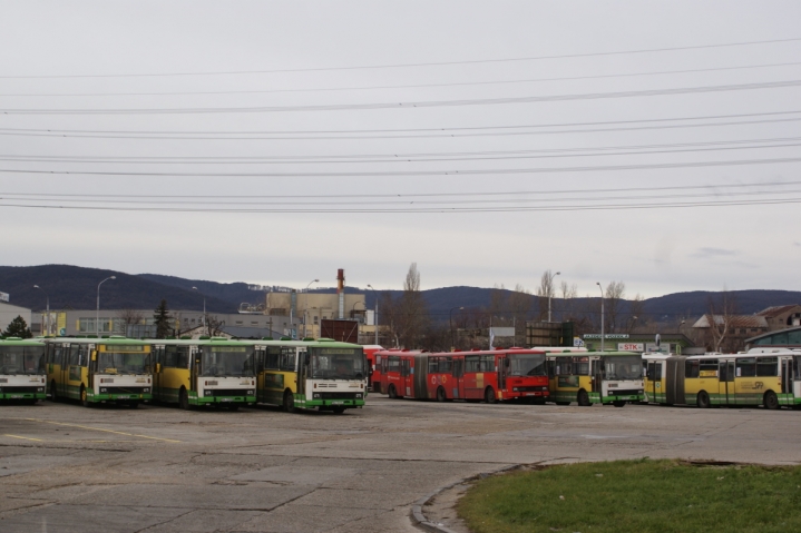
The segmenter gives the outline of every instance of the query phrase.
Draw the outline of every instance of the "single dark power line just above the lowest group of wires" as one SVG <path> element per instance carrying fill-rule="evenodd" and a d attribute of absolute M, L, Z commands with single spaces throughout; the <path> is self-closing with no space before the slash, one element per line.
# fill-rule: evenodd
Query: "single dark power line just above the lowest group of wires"
<path fill-rule="evenodd" d="M 131 171 L 100 171 L 100 170 L 27 170 L 0 169 L 1 174 L 32 174 L 53 176 L 141 176 L 141 177 L 252 177 L 252 178 L 299 178 L 299 177 L 411 177 L 411 176 L 478 176 L 478 175 L 522 175 L 522 174 L 556 174 L 556 172 L 587 172 L 604 170 L 644 170 L 696 167 L 729 167 L 742 165 L 772 165 L 781 162 L 799 162 L 801 157 L 784 157 L 773 159 L 740 159 L 730 161 L 693 161 L 693 162 L 661 162 L 643 165 L 609 165 L 586 167 L 546 167 L 546 168 L 500 168 L 500 169 L 469 169 L 469 170 L 380 170 L 367 172 L 131 172 Z"/>

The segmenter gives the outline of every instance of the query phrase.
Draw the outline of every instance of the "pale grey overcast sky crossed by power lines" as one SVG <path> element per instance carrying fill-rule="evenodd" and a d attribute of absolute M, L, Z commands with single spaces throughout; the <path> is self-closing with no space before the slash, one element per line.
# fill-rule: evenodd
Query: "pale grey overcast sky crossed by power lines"
<path fill-rule="evenodd" d="M 801 2 L 0 13 L 3 265 L 799 289 Z"/>

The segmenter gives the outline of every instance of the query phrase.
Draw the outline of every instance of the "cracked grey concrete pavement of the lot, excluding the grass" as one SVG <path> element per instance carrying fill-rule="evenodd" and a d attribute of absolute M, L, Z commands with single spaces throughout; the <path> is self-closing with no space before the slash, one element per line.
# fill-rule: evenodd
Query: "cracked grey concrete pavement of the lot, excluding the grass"
<path fill-rule="evenodd" d="M 799 417 L 375 395 L 344 415 L 4 405 L 0 531 L 416 532 L 416 500 L 509 464 L 643 456 L 799 464 Z"/>

